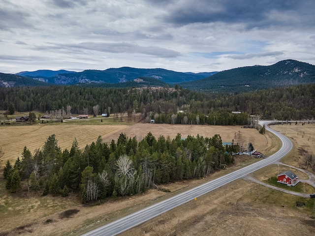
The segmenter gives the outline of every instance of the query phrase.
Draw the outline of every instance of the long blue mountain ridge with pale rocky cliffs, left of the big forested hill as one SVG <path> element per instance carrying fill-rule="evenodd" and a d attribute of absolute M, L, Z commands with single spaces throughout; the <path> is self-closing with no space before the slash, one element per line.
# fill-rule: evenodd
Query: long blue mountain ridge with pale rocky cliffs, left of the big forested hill
<path fill-rule="evenodd" d="M 123 83 L 140 77 L 154 78 L 167 84 L 195 81 L 216 72 L 183 73 L 165 69 L 138 69 L 132 67 L 110 68 L 106 70 L 84 70 L 82 72 L 56 74 L 51 77 L 35 76 L 34 79 L 58 85 L 82 83 Z"/>

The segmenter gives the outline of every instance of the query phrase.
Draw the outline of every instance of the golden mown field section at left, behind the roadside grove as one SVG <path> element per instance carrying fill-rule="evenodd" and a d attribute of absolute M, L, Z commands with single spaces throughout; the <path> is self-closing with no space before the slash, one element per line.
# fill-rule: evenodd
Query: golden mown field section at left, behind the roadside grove
<path fill-rule="evenodd" d="M 78 140 L 79 147 L 84 148 L 97 140 L 100 135 L 104 138 L 113 134 L 120 134 L 127 125 L 25 125 L 0 126 L 0 147 L 4 152 L 2 160 L 15 161 L 21 156 L 24 146 L 33 152 L 41 148 L 47 138 L 55 134 L 58 145 L 70 149 L 74 138 Z M 114 135 L 115 136 L 115 135 Z M 2 161 L 2 165 L 3 165 Z M 14 164 L 14 163 L 13 163 Z"/>

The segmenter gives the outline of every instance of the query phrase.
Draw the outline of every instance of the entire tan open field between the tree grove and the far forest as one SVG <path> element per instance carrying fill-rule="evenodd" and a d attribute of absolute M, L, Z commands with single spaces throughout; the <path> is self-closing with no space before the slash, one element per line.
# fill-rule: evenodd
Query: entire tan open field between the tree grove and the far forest
<path fill-rule="evenodd" d="M 96 120 L 96 121 L 95 121 Z M 199 134 L 204 137 L 212 137 L 220 134 L 223 142 L 231 142 L 234 134 L 238 131 L 244 137 L 245 146 L 252 142 L 253 147 L 258 151 L 263 151 L 269 155 L 277 150 L 277 142 L 268 133 L 260 135 L 255 129 L 243 129 L 241 126 L 209 126 L 209 125 L 170 125 L 170 124 L 149 124 L 136 123 L 134 125 L 89 125 L 86 122 L 100 122 L 100 119 L 80 120 L 80 122 L 69 121 L 64 123 L 36 124 L 36 125 L 1 125 L 0 126 L 0 147 L 4 152 L 2 165 L 6 160 L 15 161 L 21 155 L 24 146 L 33 152 L 36 148 L 41 148 L 47 138 L 55 134 L 58 145 L 64 148 L 71 148 L 73 139 L 76 138 L 79 148 L 84 148 L 87 144 L 95 142 L 100 135 L 104 142 L 110 143 L 117 140 L 121 133 L 126 133 L 128 137 L 136 136 L 142 140 L 149 132 L 157 139 L 160 135 L 165 138 L 175 138 L 180 133 L 185 138 L 188 135 Z M 85 125 L 82 125 L 85 124 Z M 104 122 L 105 124 L 105 122 Z M 268 144 L 267 144 L 268 141 Z M 1 161 L 1 160 L 0 160 Z M 0 162 L 1 165 L 1 162 Z"/>

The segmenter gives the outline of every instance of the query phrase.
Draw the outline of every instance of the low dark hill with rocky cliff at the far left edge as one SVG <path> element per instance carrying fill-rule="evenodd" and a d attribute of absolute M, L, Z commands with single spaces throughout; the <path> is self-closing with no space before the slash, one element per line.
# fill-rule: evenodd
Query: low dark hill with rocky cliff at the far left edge
<path fill-rule="evenodd" d="M 48 86 L 49 84 L 19 75 L 0 73 L 0 87 Z"/>

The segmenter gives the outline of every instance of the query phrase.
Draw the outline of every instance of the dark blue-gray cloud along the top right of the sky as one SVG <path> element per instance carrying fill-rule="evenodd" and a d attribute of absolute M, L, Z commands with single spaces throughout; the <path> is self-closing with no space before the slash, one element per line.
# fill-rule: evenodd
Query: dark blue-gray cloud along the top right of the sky
<path fill-rule="evenodd" d="M 302 18 L 308 18 L 310 22 L 307 24 L 312 24 L 314 12 L 315 3 L 312 0 L 187 0 L 185 4 L 173 4 L 164 20 L 177 25 L 242 23 L 246 28 L 252 29 L 273 24 L 298 24 Z M 273 15 L 278 17 L 271 18 Z"/>

